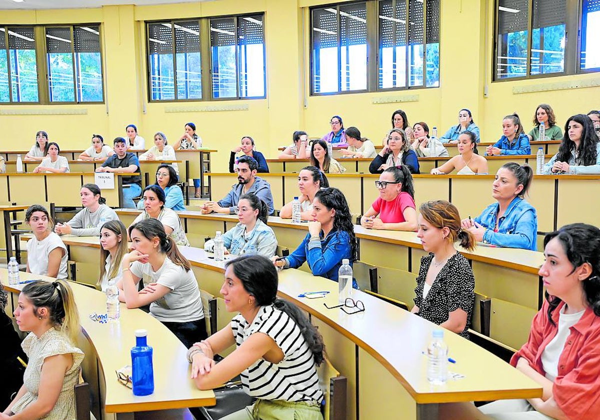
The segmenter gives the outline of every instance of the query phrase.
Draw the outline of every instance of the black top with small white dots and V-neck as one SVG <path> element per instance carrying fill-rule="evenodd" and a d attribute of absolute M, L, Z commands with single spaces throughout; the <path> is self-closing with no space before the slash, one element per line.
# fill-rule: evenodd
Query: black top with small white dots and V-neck
<path fill-rule="evenodd" d="M 415 305 L 419 307 L 418 316 L 437 325 L 448 320 L 448 314 L 461 308 L 467 313 L 467 325 L 462 335 L 469 338 L 469 327 L 475 302 L 475 277 L 469 261 L 459 252 L 451 256 L 442 267 L 431 289 L 423 299 L 423 287 L 427 271 L 433 260 L 433 254 L 421 257 L 419 277 L 416 278 Z"/>

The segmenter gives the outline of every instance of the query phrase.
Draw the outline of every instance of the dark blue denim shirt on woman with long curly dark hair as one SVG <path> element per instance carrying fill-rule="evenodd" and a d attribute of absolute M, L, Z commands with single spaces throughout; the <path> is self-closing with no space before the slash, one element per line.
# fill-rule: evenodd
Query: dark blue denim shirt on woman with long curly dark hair
<path fill-rule="evenodd" d="M 322 235 L 321 232 L 319 236 Z M 310 240 L 310 233 L 308 233 L 302 244 L 286 257 L 286 268 L 298 268 L 307 262 L 313 275 L 337 281 L 341 260 L 347 258 L 352 265 L 351 250 L 350 235 L 343 230 L 329 232 L 326 238 L 313 239 L 313 241 Z"/>

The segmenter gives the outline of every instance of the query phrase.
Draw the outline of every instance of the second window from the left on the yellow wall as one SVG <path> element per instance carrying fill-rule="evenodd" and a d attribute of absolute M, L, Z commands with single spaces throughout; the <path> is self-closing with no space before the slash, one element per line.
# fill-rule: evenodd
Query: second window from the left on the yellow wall
<path fill-rule="evenodd" d="M 262 14 L 152 22 L 147 37 L 151 101 L 266 96 Z"/>

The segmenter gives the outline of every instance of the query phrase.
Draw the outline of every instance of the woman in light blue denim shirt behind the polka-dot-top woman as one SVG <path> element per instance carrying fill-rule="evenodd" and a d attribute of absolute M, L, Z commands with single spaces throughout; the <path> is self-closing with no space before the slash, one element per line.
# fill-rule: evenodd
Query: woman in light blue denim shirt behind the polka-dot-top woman
<path fill-rule="evenodd" d="M 535 251 L 538 214 L 523 199 L 532 178 L 533 170 L 529 165 L 503 164 L 492 184 L 491 195 L 496 203 L 487 206 L 473 220 L 470 216 L 463 219 L 463 229 L 468 229 L 484 244 Z"/>

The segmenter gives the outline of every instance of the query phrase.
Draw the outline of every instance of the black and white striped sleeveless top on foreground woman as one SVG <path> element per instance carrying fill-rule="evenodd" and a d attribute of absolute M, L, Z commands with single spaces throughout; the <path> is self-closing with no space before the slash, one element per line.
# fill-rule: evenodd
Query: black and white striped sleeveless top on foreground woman
<path fill-rule="evenodd" d="M 263 400 L 323 400 L 317 367 L 302 332 L 292 318 L 273 305 L 260 307 L 251 325 L 240 315 L 231 322 L 237 346 L 254 332 L 271 337 L 283 352 L 277 364 L 259 359 L 241 374 L 244 391 Z"/>

